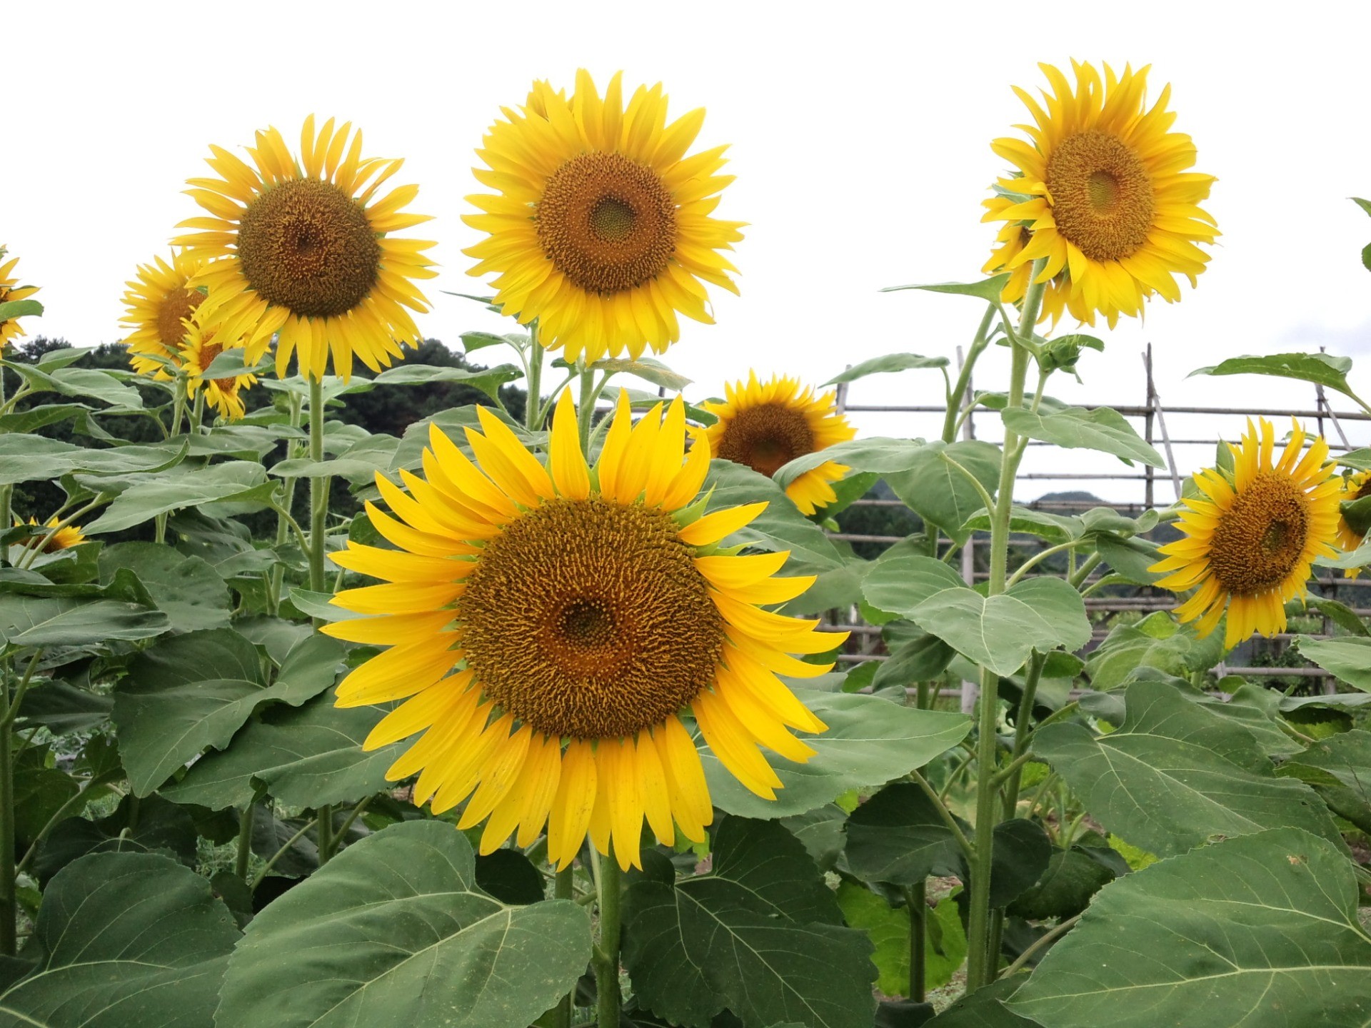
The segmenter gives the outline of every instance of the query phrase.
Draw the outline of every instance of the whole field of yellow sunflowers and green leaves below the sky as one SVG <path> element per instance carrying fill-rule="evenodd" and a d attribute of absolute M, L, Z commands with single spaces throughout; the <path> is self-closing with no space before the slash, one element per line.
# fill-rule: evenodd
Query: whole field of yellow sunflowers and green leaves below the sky
<path fill-rule="evenodd" d="M 956 376 L 721 348 L 692 395 L 659 358 L 746 223 L 705 111 L 618 74 L 480 137 L 447 284 L 509 330 L 461 366 L 406 363 L 435 232 L 333 118 L 208 147 L 126 369 L 26 348 L 0 249 L 0 1028 L 1371 1024 L 1371 626 L 1309 593 L 1371 565 L 1371 450 L 1254 417 L 1169 507 L 1016 504 L 1030 443 L 1165 466 L 1050 385 L 1220 234 L 1169 86 L 1042 73 L 984 267 L 901 286 L 973 314 Z M 938 439 L 829 389 L 930 369 Z M 1345 356 L 1200 371 L 1371 415 Z M 435 382 L 481 402 L 341 417 Z M 882 481 L 919 529 L 868 559 L 835 518 Z M 1176 603 L 1097 625 L 1106 587 Z M 1330 687 L 1227 673 L 1253 635 Z"/>

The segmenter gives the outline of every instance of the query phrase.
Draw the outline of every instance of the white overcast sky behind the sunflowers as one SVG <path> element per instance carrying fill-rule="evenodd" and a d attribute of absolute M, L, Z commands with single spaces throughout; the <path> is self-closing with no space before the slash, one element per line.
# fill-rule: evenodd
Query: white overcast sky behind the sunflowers
<path fill-rule="evenodd" d="M 1223 230 L 1209 270 L 1182 303 L 1153 303 L 1146 325 L 1102 332 L 1082 362 L 1075 402 L 1143 400 L 1141 351 L 1174 406 L 1308 408 L 1312 388 L 1254 377 L 1193 378 L 1245 352 L 1316 350 L 1359 360 L 1371 395 L 1371 273 L 1360 251 L 1371 218 L 1367 40 L 1371 4 L 1031 5 L 861 3 L 32 3 L 4 14 L 5 144 L 0 243 L 41 285 L 30 334 L 77 345 L 121 337 L 123 282 L 167 252 L 174 225 L 199 214 L 181 195 L 208 174 L 208 144 L 237 148 L 258 127 L 299 137 L 308 112 L 351 119 L 366 152 L 403 156 L 396 182 L 421 186 L 436 221 L 441 274 L 421 330 L 448 344 L 509 322 L 439 291 L 481 292 L 461 252 L 478 192 L 472 151 L 500 106 L 533 78 L 570 88 L 662 81 L 672 111 L 706 107 L 698 147 L 731 143 L 720 217 L 750 222 L 735 263 L 742 296 L 714 291 L 717 325 L 684 321 L 665 360 L 718 395 L 747 369 L 820 382 L 888 351 L 951 355 L 979 319 L 965 297 L 880 293 L 905 282 L 971 281 L 993 228 L 980 200 L 1004 162 L 990 140 L 1027 121 L 1010 92 L 1043 85 L 1036 62 L 1150 63 L 1150 96 L 1171 82 L 1176 130 L 1215 174 L 1208 204 Z M 1064 325 L 1058 332 L 1069 330 Z M 489 354 L 491 351 L 484 351 Z M 1004 351 L 976 384 L 1004 384 Z M 936 373 L 858 382 L 857 404 L 938 403 Z M 1337 404 L 1339 410 L 1346 402 Z M 871 435 L 936 435 L 931 418 L 860 415 Z M 1239 419 L 1168 419 L 1172 436 L 1235 437 Z M 1366 424 L 1345 425 L 1353 444 Z M 980 435 L 995 436 L 986 418 Z M 1182 473 L 1212 448 L 1182 448 Z M 1026 470 L 1127 470 L 1076 451 Z M 1078 459 L 1079 458 L 1079 459 Z M 1089 484 L 1134 499 L 1134 482 Z M 1024 487 L 1026 495 L 1057 488 Z M 1169 499 L 1167 489 L 1158 499 Z"/>

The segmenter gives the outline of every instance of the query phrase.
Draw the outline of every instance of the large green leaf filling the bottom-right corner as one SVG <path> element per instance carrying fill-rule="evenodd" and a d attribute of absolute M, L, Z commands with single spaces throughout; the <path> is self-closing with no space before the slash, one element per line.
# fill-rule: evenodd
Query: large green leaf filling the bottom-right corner
<path fill-rule="evenodd" d="M 1363 1025 L 1371 940 L 1352 864 L 1282 828 L 1105 887 L 1009 1009 L 1049 1028 Z"/>

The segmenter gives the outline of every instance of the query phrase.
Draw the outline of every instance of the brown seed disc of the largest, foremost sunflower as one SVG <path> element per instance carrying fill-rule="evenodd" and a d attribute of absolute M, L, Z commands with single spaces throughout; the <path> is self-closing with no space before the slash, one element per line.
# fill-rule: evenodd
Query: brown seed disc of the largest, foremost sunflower
<path fill-rule="evenodd" d="M 487 543 L 458 600 L 487 695 L 550 736 L 631 736 L 714 678 L 723 620 L 670 515 L 554 499 Z"/>

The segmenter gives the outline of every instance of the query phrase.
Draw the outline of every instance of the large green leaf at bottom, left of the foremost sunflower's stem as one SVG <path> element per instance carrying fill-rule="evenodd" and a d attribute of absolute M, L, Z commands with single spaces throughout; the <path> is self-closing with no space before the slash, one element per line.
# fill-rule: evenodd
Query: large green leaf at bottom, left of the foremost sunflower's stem
<path fill-rule="evenodd" d="M 451 825 L 392 825 L 343 850 L 248 925 L 215 1028 L 525 1028 L 576 986 L 585 910 L 511 907 L 476 884 Z"/>

